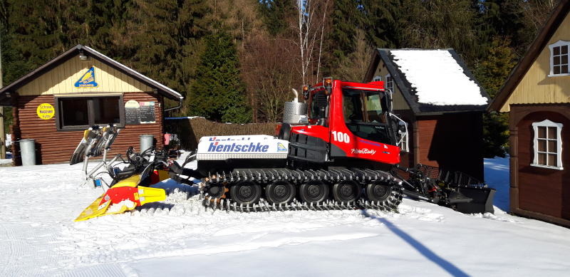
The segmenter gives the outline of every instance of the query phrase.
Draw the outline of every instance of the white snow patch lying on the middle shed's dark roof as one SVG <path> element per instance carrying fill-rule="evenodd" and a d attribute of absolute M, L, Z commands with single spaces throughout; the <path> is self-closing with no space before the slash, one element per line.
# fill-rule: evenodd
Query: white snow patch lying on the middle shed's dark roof
<path fill-rule="evenodd" d="M 447 50 L 393 50 L 394 63 L 415 88 L 419 103 L 487 105 L 479 85 Z"/>

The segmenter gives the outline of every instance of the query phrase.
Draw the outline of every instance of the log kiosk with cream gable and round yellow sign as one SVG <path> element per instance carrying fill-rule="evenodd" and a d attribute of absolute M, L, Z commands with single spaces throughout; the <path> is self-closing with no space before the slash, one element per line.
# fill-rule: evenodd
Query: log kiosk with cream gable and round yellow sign
<path fill-rule="evenodd" d="M 0 90 L 0 105 L 14 107 L 12 141 L 35 140 L 41 164 L 68 162 L 83 130 L 93 125 L 123 128 L 111 154 L 137 147 L 142 134 L 162 147 L 165 98 L 180 101 L 182 95 L 82 45 Z"/>

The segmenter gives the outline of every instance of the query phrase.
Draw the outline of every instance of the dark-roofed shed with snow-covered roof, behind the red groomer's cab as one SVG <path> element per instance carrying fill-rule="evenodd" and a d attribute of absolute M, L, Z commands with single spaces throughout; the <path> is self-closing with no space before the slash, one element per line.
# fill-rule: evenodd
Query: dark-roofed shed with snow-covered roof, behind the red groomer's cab
<path fill-rule="evenodd" d="M 483 180 L 482 114 L 489 96 L 453 49 L 383 49 L 365 82 L 382 80 L 408 123 L 401 164 L 427 164 Z"/>

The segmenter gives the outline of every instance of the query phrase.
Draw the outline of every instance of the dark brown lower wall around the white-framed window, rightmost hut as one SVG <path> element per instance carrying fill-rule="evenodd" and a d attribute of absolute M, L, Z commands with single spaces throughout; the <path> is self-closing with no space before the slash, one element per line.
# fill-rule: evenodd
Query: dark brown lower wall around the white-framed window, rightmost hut
<path fill-rule="evenodd" d="M 511 184 L 517 190 L 511 196 L 517 197 L 517 199 L 512 199 L 511 201 L 516 204 L 513 207 L 514 212 L 517 213 L 519 209 L 522 209 L 560 219 L 570 219 L 570 152 L 568 151 L 568 145 L 570 145 L 570 118 L 561 113 L 551 111 L 556 109 L 548 105 L 544 105 L 542 108 L 533 108 L 541 111 L 530 113 L 517 123 L 516 148 L 518 151 L 517 155 L 514 156 L 517 157 L 517 167 L 516 169 L 511 169 L 518 171 L 517 176 L 514 178 L 517 184 Z M 569 109 L 570 107 L 565 108 Z M 512 107 L 513 112 L 517 109 L 529 110 L 529 107 Z M 563 139 L 561 155 L 564 170 L 532 167 L 530 165 L 534 158 L 534 130 L 532 129 L 532 123 L 545 119 L 564 125 L 561 134 Z M 524 215 L 545 219 L 540 215 Z"/>

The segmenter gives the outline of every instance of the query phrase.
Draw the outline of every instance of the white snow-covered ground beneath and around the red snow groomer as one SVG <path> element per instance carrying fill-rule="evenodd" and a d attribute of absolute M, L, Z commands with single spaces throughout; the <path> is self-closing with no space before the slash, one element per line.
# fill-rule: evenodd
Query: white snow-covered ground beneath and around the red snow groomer
<path fill-rule="evenodd" d="M 485 161 L 508 207 L 508 160 Z M 0 276 L 567 276 L 570 229 L 404 199 L 400 212 L 204 211 L 195 187 L 73 219 L 101 194 L 81 165 L 0 167 Z"/>

